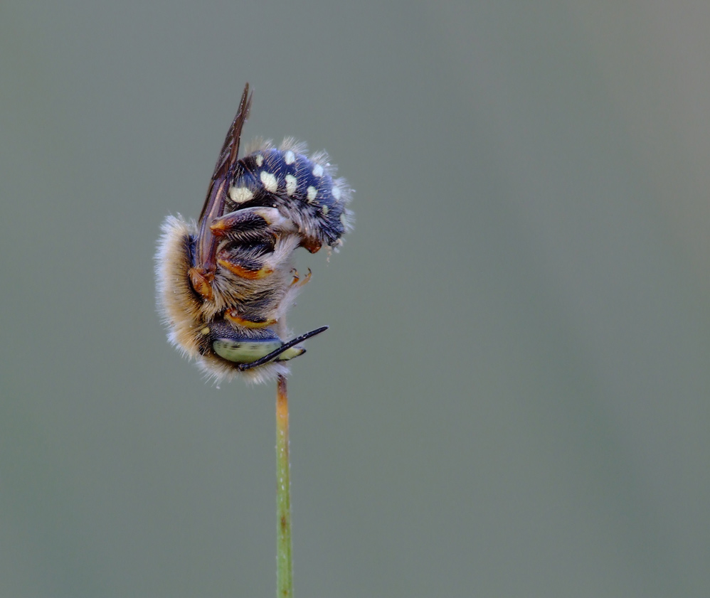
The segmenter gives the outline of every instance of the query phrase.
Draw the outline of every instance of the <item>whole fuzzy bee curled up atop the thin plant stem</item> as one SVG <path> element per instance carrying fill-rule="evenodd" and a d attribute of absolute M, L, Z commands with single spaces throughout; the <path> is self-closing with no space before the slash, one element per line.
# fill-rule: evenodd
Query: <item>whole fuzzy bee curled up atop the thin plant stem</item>
<path fill-rule="evenodd" d="M 255 142 L 238 159 L 252 97 L 245 85 L 198 221 L 169 215 L 156 254 L 157 304 L 168 340 L 208 378 L 263 382 L 305 353 L 285 316 L 311 276 L 293 267 L 298 247 L 337 250 L 352 228 L 351 188 L 325 152 L 285 139 Z"/>

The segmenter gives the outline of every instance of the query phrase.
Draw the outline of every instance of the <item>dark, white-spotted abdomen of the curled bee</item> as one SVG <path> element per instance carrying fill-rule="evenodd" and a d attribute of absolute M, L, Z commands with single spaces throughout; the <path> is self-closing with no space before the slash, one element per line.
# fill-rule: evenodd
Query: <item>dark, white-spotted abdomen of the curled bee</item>
<path fill-rule="evenodd" d="M 263 144 L 244 156 L 235 164 L 226 208 L 278 208 L 297 225 L 306 247 L 337 247 L 351 227 L 351 190 L 343 178 L 334 178 L 326 154 L 309 157 L 302 151 L 287 141 L 280 148 Z"/>

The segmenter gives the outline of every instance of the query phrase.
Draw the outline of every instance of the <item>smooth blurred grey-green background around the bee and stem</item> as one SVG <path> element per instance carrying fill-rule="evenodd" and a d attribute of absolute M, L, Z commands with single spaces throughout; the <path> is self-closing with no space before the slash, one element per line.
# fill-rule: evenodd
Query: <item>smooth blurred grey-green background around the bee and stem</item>
<path fill-rule="evenodd" d="M 295 594 L 710 594 L 710 4 L 0 7 L 0 594 L 270 596 L 275 385 L 153 254 L 245 139 L 354 233 L 290 316 Z"/>

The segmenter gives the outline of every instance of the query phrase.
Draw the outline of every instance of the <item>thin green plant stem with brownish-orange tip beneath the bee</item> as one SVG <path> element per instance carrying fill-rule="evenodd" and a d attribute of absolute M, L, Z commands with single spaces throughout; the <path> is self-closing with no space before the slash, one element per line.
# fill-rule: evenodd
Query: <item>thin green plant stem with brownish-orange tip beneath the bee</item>
<path fill-rule="evenodd" d="M 288 394 L 279 376 L 276 392 L 276 597 L 293 597 L 291 475 L 288 454 Z"/>

